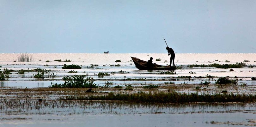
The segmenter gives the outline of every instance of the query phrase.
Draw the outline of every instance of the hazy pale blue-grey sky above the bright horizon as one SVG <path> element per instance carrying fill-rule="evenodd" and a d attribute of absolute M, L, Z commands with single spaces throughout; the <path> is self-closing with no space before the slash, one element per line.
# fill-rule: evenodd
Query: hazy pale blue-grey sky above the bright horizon
<path fill-rule="evenodd" d="M 256 53 L 255 0 L 0 0 L 0 53 Z"/>

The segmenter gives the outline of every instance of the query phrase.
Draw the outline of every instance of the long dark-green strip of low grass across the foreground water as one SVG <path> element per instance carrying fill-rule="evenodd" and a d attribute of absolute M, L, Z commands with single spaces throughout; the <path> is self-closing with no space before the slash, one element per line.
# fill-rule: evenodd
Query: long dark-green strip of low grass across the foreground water
<path fill-rule="evenodd" d="M 256 95 L 245 94 L 182 94 L 170 93 L 140 93 L 140 94 L 113 94 L 100 96 L 67 96 L 60 100 L 121 100 L 129 102 L 149 103 L 188 103 L 188 102 L 256 102 Z"/>

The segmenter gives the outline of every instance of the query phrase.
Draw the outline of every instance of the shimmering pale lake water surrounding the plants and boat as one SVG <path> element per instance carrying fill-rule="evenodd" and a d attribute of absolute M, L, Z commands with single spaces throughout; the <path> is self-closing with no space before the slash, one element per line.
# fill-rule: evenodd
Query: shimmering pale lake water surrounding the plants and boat
<path fill-rule="evenodd" d="M 256 54 L 176 54 L 175 64 L 182 66 L 182 69 L 176 70 L 175 75 L 159 75 L 157 71 L 148 72 L 138 70 L 131 61 L 132 57 L 137 57 L 147 61 L 153 57 L 153 63 L 160 65 L 169 64 L 170 57 L 165 54 L 90 54 L 90 53 L 35 53 L 33 62 L 13 62 L 17 60 L 17 54 L 0 54 L 0 69 L 11 69 L 8 81 L 0 81 L 0 99 L 10 100 L 10 102 L 18 102 L 29 99 L 33 102 L 29 103 L 30 108 L 22 109 L 21 106 L 5 105 L 1 103 L 0 107 L 0 127 L 6 126 L 239 126 L 251 125 L 248 119 L 255 120 L 254 104 L 185 104 L 185 105 L 161 105 L 158 104 L 124 104 L 115 102 L 88 102 L 74 101 L 64 103 L 58 98 L 67 95 L 84 95 L 87 89 L 63 89 L 63 90 L 46 90 L 53 83 L 63 83 L 64 76 L 85 75 L 95 79 L 94 83 L 104 86 L 105 82 L 113 82 L 111 88 L 94 89 L 99 93 L 114 92 L 136 94 L 152 91 L 143 89 L 143 85 L 159 85 L 155 91 L 167 92 L 168 89 L 182 93 L 198 93 L 212 94 L 222 90 L 229 93 L 238 94 L 256 94 L 256 81 L 252 81 L 251 77 L 256 76 L 255 68 L 234 69 L 216 69 L 216 68 L 188 68 L 191 64 L 235 64 L 243 62 L 245 59 L 250 62 L 247 65 L 256 65 Z M 156 58 L 162 59 L 155 61 Z M 72 62 L 56 62 L 55 59 L 70 59 Z M 116 60 L 122 62 L 115 62 Z M 50 62 L 46 62 L 50 60 Z M 167 60 L 167 62 L 164 62 Z M 216 61 L 218 60 L 218 61 Z M 229 60 L 230 62 L 225 62 Z M 49 65 L 49 66 L 46 66 Z M 62 69 L 63 64 L 78 64 L 82 69 L 77 69 L 78 73 L 68 73 L 70 69 Z M 90 68 L 91 64 L 99 66 Z M 120 64 L 121 66 L 109 66 Z M 45 68 L 49 74 L 57 74 L 56 77 L 49 77 L 45 74 L 44 79 L 36 79 L 36 72 L 25 72 L 18 74 L 18 70 Z M 73 70 L 73 69 L 71 69 Z M 119 71 L 125 71 L 120 74 Z M 115 72 L 110 76 L 99 78 L 99 72 Z M 193 72 L 193 74 L 191 74 Z M 206 78 L 206 75 L 215 76 L 214 78 Z M 179 76 L 191 76 L 192 78 L 184 79 Z M 198 78 L 202 76 L 201 78 Z M 238 79 L 236 85 L 216 85 L 215 80 L 219 77 L 229 76 L 230 79 Z M 143 81 L 124 81 L 124 79 L 145 79 Z M 209 86 L 199 85 L 200 82 L 211 82 Z M 170 83 L 171 82 L 171 83 Z M 125 91 L 122 89 L 113 89 L 113 86 L 125 86 L 131 84 L 133 91 Z M 246 84 L 246 85 L 244 85 Z M 195 87 L 200 86 L 200 90 Z M 154 90 L 153 90 L 154 91 Z M 49 106 L 38 106 L 37 99 L 42 98 Z M 14 100 L 12 100 L 14 99 Z M 55 104 L 56 103 L 56 104 Z M 55 107 L 52 107 L 52 106 Z M 60 106 L 60 107 L 56 107 Z M 64 106 L 64 107 L 61 107 Z M 103 107 L 104 106 L 104 107 Z M 40 108 L 38 108 L 40 107 Z M 106 108 L 107 107 L 107 108 Z M 210 123 L 216 121 L 215 123 Z M 227 123 L 227 121 L 232 123 Z"/>

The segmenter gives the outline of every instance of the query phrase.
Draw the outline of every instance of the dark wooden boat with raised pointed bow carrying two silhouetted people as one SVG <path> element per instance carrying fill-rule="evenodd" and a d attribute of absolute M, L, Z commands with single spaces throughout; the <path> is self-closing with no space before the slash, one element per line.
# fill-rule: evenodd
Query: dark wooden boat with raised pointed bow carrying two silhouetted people
<path fill-rule="evenodd" d="M 162 66 L 162 65 L 158 65 L 158 64 L 155 64 L 155 66 L 152 69 L 149 69 L 147 67 L 146 61 L 141 60 L 136 57 L 131 57 L 131 59 L 134 62 L 136 68 L 139 70 L 175 70 L 176 69 L 176 66 L 169 67 L 169 66 Z"/>

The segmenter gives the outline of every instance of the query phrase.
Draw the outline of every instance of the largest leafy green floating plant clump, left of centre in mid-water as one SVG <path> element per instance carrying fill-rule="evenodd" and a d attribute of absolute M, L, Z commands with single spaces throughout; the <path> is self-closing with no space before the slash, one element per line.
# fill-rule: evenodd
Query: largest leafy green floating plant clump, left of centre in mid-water
<path fill-rule="evenodd" d="M 98 88 L 99 85 L 93 83 L 94 79 L 87 75 L 74 75 L 65 77 L 62 84 L 52 83 L 49 88 Z"/>

